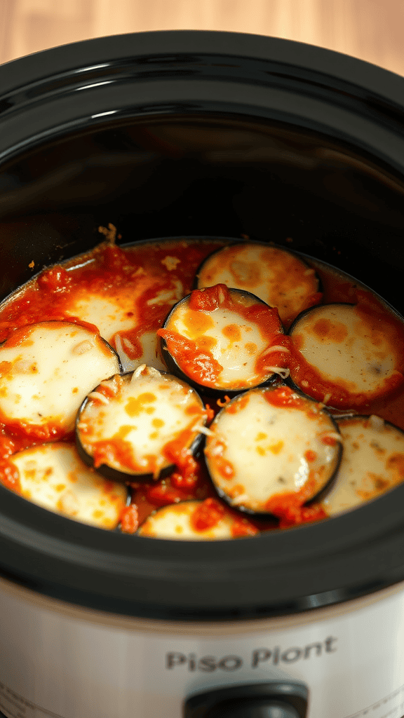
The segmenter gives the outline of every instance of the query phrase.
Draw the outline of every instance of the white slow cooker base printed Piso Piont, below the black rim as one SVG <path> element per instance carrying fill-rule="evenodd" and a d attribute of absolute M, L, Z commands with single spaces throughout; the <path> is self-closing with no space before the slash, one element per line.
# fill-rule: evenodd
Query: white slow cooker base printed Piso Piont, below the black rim
<path fill-rule="evenodd" d="M 7 718 L 182 718 L 193 693 L 307 684 L 307 718 L 402 718 L 404 584 L 283 619 L 165 623 L 92 612 L 0 581 Z"/>

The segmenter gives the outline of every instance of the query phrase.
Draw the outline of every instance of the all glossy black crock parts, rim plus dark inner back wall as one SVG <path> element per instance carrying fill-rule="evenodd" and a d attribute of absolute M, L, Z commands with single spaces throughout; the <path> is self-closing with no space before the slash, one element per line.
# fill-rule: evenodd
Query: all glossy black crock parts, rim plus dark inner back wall
<path fill-rule="evenodd" d="M 22 58 L 0 86 L 2 297 L 113 223 L 122 243 L 275 241 L 403 311 L 403 78 L 285 40 L 167 32 Z M 404 579 L 403 485 L 339 518 L 212 543 L 109 533 L 0 494 L 1 574 L 101 610 L 264 617 Z"/>

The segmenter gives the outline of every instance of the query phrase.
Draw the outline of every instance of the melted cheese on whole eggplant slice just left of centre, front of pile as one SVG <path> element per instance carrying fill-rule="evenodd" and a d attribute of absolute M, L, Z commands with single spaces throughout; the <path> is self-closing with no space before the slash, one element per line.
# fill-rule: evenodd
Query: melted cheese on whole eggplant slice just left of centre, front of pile
<path fill-rule="evenodd" d="M 200 434 L 206 412 L 196 391 L 170 375 L 140 368 L 136 374 L 115 377 L 104 386 L 116 387 L 105 401 L 89 398 L 78 421 L 78 437 L 93 457 L 98 442 L 116 448 L 103 463 L 131 475 L 152 472 L 173 465 L 164 449 L 168 442 L 187 432 L 184 445 L 190 447 Z"/>

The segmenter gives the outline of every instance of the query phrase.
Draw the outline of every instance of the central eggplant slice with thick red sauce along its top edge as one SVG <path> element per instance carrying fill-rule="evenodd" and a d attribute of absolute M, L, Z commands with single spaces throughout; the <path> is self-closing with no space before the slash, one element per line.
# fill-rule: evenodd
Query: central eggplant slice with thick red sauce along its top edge
<path fill-rule="evenodd" d="M 289 370 L 277 309 L 224 284 L 196 289 L 175 304 L 158 335 L 167 367 L 210 394 L 234 395 Z"/>

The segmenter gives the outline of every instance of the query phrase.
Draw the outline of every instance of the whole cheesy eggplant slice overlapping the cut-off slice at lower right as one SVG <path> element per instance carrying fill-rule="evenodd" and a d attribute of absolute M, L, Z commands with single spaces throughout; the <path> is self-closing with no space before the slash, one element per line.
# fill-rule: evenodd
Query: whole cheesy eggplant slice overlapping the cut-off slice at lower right
<path fill-rule="evenodd" d="M 290 396 L 296 397 L 300 401 L 303 400 L 310 414 L 312 413 L 311 406 L 316 409 L 316 414 L 318 415 L 316 426 L 313 425 L 313 419 L 308 420 L 310 427 L 313 426 L 310 444 L 306 443 L 306 419 L 303 419 L 303 424 L 300 428 L 300 417 L 304 417 L 306 411 L 302 412 L 300 409 L 296 409 L 298 424 L 294 426 L 292 422 L 288 426 L 288 414 L 281 407 L 270 409 L 267 401 L 262 401 L 268 391 L 286 391 L 290 393 Z M 288 465 L 287 462 L 288 444 L 293 442 L 293 450 L 298 447 L 299 443 L 301 444 L 301 459 L 304 457 L 306 460 L 306 452 L 310 451 L 311 453 L 311 457 L 306 460 L 307 477 L 301 487 L 302 500 L 300 505 L 310 505 L 321 500 L 334 485 L 343 453 L 341 441 L 336 441 L 333 438 L 332 449 L 331 447 L 328 448 L 326 442 L 323 443 L 322 441 L 324 434 L 340 435 L 341 432 L 339 432 L 334 418 L 326 409 L 318 409 L 316 401 L 304 396 L 301 392 L 291 391 L 290 387 L 285 383 L 275 388 L 252 389 L 244 393 L 243 396 L 244 398 L 234 398 L 219 411 L 210 426 L 211 431 L 214 433 L 206 440 L 204 452 L 206 467 L 216 493 L 231 508 L 243 513 L 257 516 L 257 518 L 274 516 L 264 508 L 272 497 L 280 496 L 283 493 L 287 497 L 291 493 L 296 492 L 298 494 L 300 491 L 300 489 L 297 489 L 298 484 L 295 485 L 295 472 L 300 475 L 301 470 L 298 462 L 300 454 L 296 457 L 296 465 Z M 240 400 L 243 402 L 248 401 L 241 410 L 234 411 L 234 406 L 237 406 Z M 243 411 L 247 412 L 244 416 Z M 260 414 L 260 411 L 263 411 L 263 414 Z M 289 411 L 292 410 L 289 409 Z M 275 422 L 272 421 L 270 416 L 272 412 Z M 223 424 L 224 419 L 226 424 Z M 243 443 L 240 445 L 236 439 L 236 444 L 229 452 L 227 449 L 231 444 L 228 437 L 237 437 L 239 435 L 237 422 L 244 427 Z M 286 429 L 284 433 L 282 433 L 283 424 L 285 424 Z M 280 429 L 277 428 L 277 425 L 280 426 Z M 219 448 L 220 444 L 224 445 L 224 450 Z M 216 467 L 215 457 L 218 454 L 223 458 Z M 318 465 L 316 464 L 317 461 Z M 240 463 L 237 466 L 238 462 Z M 251 462 L 254 462 L 254 465 Z M 304 487 L 309 480 L 310 468 L 317 472 L 318 478 L 316 479 L 316 486 L 313 487 L 314 493 L 307 495 Z M 222 474 L 223 471 L 224 473 Z M 260 477 L 262 477 L 263 481 L 262 486 L 260 486 Z M 280 483 L 280 477 L 282 477 L 282 483 Z M 249 490 L 251 480 L 252 485 Z"/>

